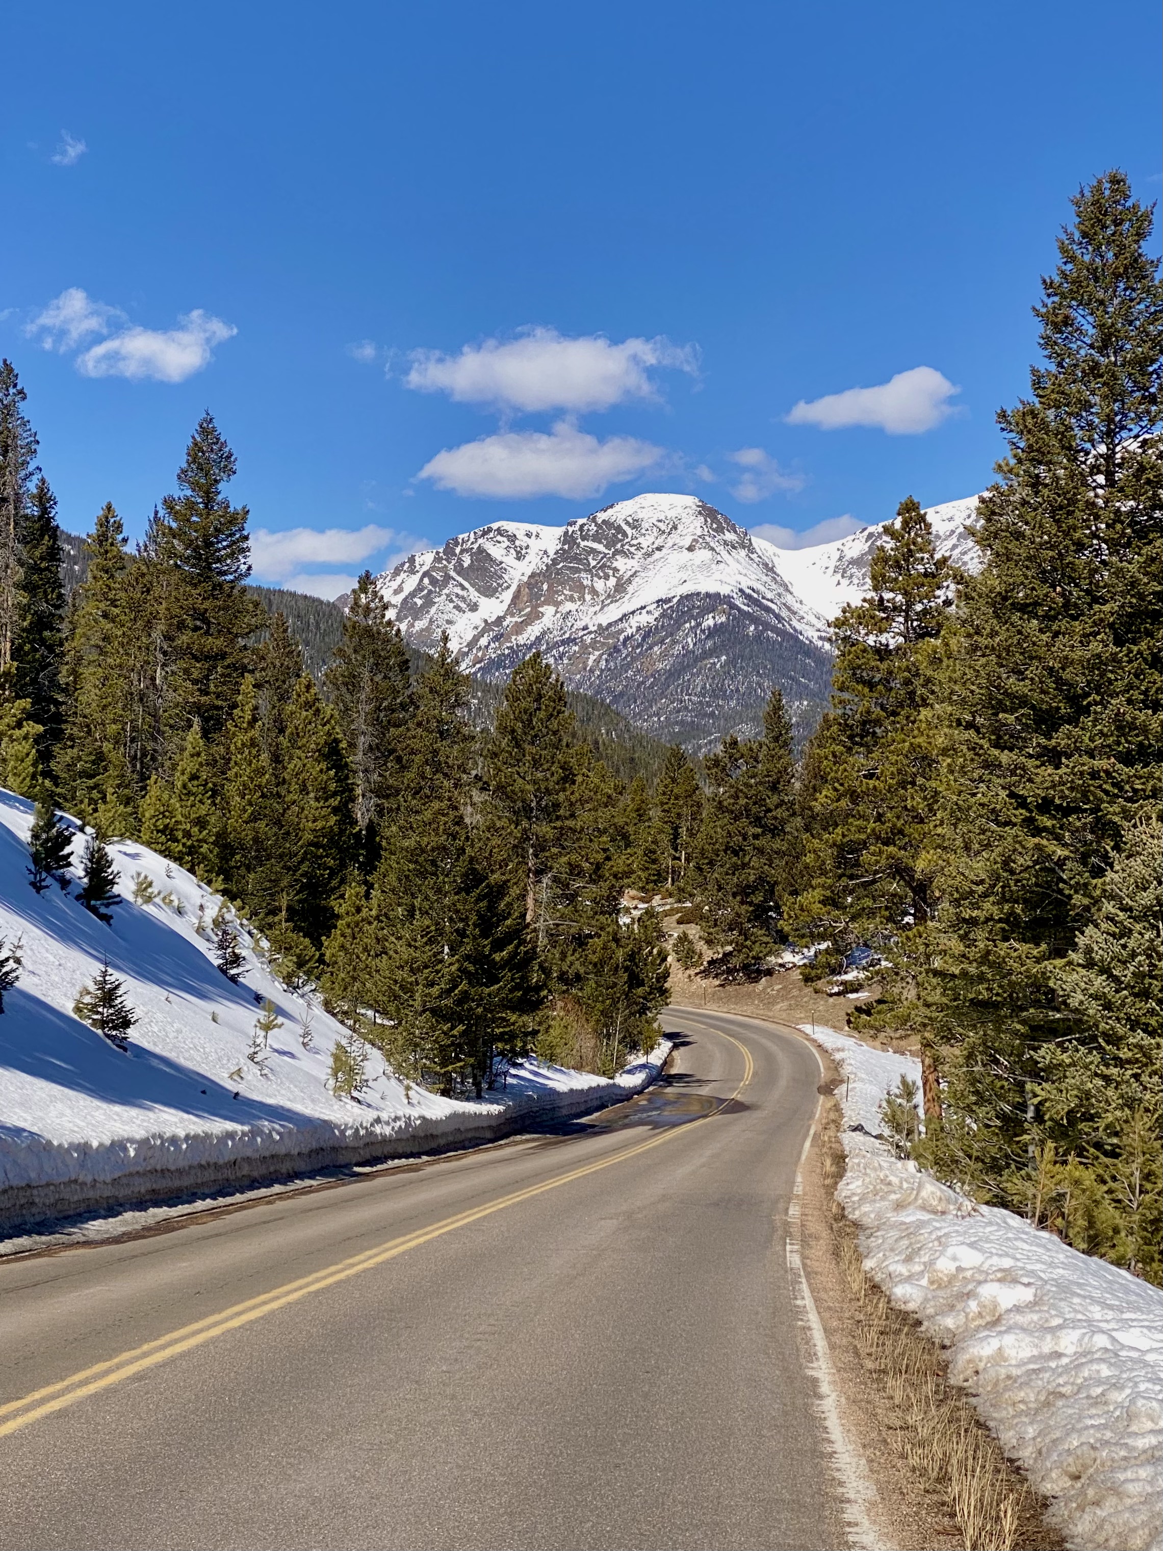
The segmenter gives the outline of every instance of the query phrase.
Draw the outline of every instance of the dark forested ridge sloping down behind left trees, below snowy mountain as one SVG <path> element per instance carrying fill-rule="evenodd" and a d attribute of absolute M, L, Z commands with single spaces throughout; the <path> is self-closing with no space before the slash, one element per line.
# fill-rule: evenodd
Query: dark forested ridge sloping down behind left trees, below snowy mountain
<path fill-rule="evenodd" d="M 60 571 L 65 582 L 65 592 L 85 580 L 84 555 L 85 540 L 79 534 L 60 532 Z M 302 647 L 302 659 L 307 672 L 316 681 L 323 679 L 324 668 L 332 659 L 332 653 L 343 636 L 344 611 L 338 603 L 330 603 L 323 597 L 310 597 L 307 592 L 290 592 L 282 588 L 257 586 L 250 583 L 248 591 L 262 603 L 268 614 L 282 614 L 290 625 L 292 634 Z M 256 641 L 262 641 L 265 631 Z M 408 647 L 412 672 L 419 672 L 430 662 L 426 651 Z M 473 720 L 479 727 L 492 727 L 496 707 L 504 695 L 504 682 L 492 682 L 473 675 Z M 594 754 L 619 780 L 633 780 L 644 776 L 654 782 L 662 769 L 667 746 L 659 738 L 651 738 L 623 715 L 606 706 L 605 701 L 592 695 L 582 695 L 566 690 L 569 709 L 577 718 L 577 727 Z"/>

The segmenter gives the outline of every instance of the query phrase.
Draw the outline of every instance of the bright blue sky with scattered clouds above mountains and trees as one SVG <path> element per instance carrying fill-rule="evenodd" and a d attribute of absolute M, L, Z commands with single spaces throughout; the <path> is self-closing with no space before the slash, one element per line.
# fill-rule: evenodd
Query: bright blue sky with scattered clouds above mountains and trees
<path fill-rule="evenodd" d="M 1160 192 L 1157 6 L 1115 14 L 9 14 L 0 351 L 62 523 L 138 535 L 206 406 L 256 574 L 323 594 L 639 490 L 816 538 L 969 495 L 1068 195 Z"/>

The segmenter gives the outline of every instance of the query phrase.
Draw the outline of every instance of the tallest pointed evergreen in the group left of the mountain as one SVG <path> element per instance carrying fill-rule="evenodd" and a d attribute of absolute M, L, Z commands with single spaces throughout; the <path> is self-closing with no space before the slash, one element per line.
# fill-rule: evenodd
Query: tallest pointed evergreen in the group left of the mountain
<path fill-rule="evenodd" d="M 167 558 L 175 586 L 166 599 L 174 696 L 185 727 L 195 721 L 211 749 L 229 720 L 248 668 L 247 637 L 264 624 L 248 596 L 247 507 L 231 506 L 234 453 L 209 413 L 198 420 L 178 470 L 178 495 L 166 496 Z"/>

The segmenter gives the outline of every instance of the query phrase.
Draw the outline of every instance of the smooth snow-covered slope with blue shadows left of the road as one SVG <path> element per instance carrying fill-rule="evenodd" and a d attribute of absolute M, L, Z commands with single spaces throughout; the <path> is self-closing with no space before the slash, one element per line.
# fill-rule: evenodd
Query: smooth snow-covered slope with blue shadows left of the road
<path fill-rule="evenodd" d="M 219 972 L 209 924 L 217 895 L 144 845 L 112 844 L 121 903 L 105 926 L 71 887 L 31 889 L 31 803 L 0 791 L 0 935 L 19 940 L 23 959 L 0 1017 L 0 1233 L 501 1137 L 620 1103 L 657 1076 L 670 1052 L 659 1045 L 613 1081 L 524 1061 L 484 1103 L 403 1084 L 374 1055 L 368 1087 L 338 1098 L 326 1079 L 346 1030 L 312 996 L 274 980 L 239 921 L 245 969 L 237 985 Z M 133 903 L 135 875 L 149 879 L 150 903 Z M 140 1017 L 127 1052 L 71 1011 L 105 959 Z M 282 1027 L 261 1069 L 247 1052 L 265 999 Z"/>

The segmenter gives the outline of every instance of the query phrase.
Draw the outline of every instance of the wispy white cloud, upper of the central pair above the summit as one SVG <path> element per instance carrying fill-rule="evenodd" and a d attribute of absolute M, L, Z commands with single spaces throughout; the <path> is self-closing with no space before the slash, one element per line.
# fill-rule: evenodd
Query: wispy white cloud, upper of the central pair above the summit
<path fill-rule="evenodd" d="M 693 346 L 668 340 L 623 340 L 605 335 L 564 338 L 557 329 L 523 329 L 515 340 L 465 344 L 459 355 L 414 351 L 405 377 L 419 392 L 447 392 L 459 403 L 538 413 L 585 414 L 609 409 L 623 399 L 657 399 L 648 369 L 671 366 L 698 374 Z"/>

